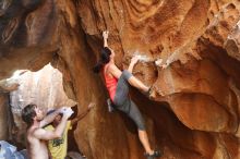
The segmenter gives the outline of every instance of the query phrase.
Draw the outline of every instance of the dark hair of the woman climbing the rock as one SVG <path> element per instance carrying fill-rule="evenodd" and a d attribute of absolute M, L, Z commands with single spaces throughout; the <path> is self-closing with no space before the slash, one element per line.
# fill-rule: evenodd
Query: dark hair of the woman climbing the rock
<path fill-rule="evenodd" d="M 111 50 L 108 47 L 104 47 L 100 50 L 100 59 L 94 66 L 94 72 L 99 73 L 103 66 L 110 61 Z"/>

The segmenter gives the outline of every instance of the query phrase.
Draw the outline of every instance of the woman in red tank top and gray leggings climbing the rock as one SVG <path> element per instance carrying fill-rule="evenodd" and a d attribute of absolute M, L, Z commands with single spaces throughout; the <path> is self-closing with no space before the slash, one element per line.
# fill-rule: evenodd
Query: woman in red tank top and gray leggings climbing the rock
<path fill-rule="evenodd" d="M 105 78 L 105 84 L 108 89 L 111 101 L 115 108 L 124 112 L 130 117 L 139 129 L 140 140 L 146 151 L 147 159 L 155 159 L 160 156 L 160 151 L 153 150 L 149 146 L 146 127 L 143 117 L 136 105 L 130 99 L 129 87 L 134 86 L 142 91 L 149 93 L 151 88 L 144 85 L 140 80 L 132 75 L 132 70 L 139 61 L 139 57 L 133 57 L 128 70 L 121 71 L 115 64 L 115 51 L 108 47 L 108 32 L 104 32 L 104 49 L 100 52 L 100 60 L 94 68 L 94 72 L 101 72 Z"/>

